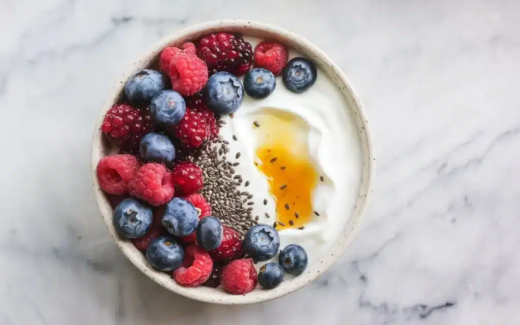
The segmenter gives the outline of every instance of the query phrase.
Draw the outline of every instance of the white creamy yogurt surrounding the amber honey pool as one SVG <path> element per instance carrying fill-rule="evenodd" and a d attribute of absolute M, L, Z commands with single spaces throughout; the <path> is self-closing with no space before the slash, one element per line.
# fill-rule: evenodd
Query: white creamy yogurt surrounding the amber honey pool
<path fill-rule="evenodd" d="M 259 43 L 255 38 L 245 37 L 253 48 Z M 289 52 L 289 59 L 301 56 Z M 243 78 L 241 78 L 243 81 Z M 259 224 L 272 225 L 276 220 L 275 201 L 269 193 L 265 177 L 254 165 L 257 137 L 251 127 L 255 115 L 269 110 L 281 110 L 294 114 L 305 123 L 300 132 L 307 134 L 307 146 L 316 169 L 324 177 L 314 191 L 313 203 L 320 216 L 305 225 L 305 229 L 282 229 L 280 249 L 295 243 L 303 246 L 309 255 L 309 264 L 320 255 L 326 254 L 336 241 L 352 212 L 361 183 L 361 147 L 352 110 L 345 98 L 329 77 L 318 69 L 316 83 L 302 94 L 290 92 L 283 85 L 281 77 L 276 79 L 274 92 L 265 99 L 253 99 L 244 94 L 240 109 L 230 116 L 224 116 L 226 124 L 220 128 L 220 135 L 230 142 L 229 161 L 241 153 L 240 165 L 234 167 L 236 174 L 249 180 L 246 190 L 254 195 L 253 216 L 259 216 Z M 232 136 L 238 140 L 234 141 Z M 267 199 L 267 205 L 263 200 Z M 271 217 L 267 218 L 265 213 Z M 275 259 L 278 255 L 275 256 Z M 261 266 L 257 264 L 257 266 Z"/>

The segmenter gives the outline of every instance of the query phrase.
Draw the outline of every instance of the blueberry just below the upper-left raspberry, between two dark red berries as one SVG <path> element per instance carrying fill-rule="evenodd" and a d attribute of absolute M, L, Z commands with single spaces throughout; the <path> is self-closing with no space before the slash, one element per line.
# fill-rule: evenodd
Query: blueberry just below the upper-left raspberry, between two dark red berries
<path fill-rule="evenodd" d="M 161 90 L 153 96 L 150 103 L 152 119 L 162 126 L 179 123 L 186 113 L 186 102 L 183 96 L 174 90 Z"/>

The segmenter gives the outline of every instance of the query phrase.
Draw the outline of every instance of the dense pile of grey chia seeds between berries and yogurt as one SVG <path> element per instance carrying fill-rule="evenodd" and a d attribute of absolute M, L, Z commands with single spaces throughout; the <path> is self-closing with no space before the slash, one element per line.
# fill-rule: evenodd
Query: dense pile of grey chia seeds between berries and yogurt
<path fill-rule="evenodd" d="M 201 194 L 210 203 L 213 215 L 243 236 L 258 222 L 251 213 L 253 194 L 240 190 L 241 186 L 249 185 L 249 181 L 242 185 L 242 176 L 235 175 L 233 169 L 239 162 L 231 162 L 225 156 L 229 152 L 228 144 L 228 141 L 219 137 L 203 145 L 196 154 L 188 155 L 186 160 L 202 168 L 204 187 Z M 236 158 L 239 157 L 240 154 L 237 154 Z"/>

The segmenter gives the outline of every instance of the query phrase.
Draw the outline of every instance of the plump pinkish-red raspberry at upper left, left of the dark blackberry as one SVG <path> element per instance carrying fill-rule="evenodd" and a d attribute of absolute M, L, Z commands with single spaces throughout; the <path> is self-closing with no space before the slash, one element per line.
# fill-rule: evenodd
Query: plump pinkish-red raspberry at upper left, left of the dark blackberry
<path fill-rule="evenodd" d="M 173 57 L 168 74 L 173 90 L 183 96 L 200 92 L 206 85 L 208 77 L 206 63 L 186 51 Z"/>

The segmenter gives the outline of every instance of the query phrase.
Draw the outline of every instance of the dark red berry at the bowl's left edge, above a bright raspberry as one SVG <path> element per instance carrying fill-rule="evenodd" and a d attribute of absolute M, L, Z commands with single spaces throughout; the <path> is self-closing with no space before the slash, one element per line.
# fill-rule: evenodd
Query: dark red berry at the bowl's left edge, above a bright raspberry
<path fill-rule="evenodd" d="M 101 124 L 101 131 L 127 152 L 137 150 L 141 138 L 154 129 L 148 108 L 139 111 L 127 104 L 112 106 Z"/>

